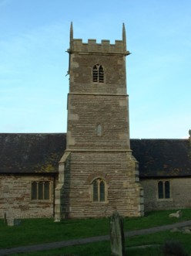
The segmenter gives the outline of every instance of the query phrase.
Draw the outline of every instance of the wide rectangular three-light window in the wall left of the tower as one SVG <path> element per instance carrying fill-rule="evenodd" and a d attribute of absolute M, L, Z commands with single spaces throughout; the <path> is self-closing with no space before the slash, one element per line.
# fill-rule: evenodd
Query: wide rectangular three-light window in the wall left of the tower
<path fill-rule="evenodd" d="M 32 182 L 32 200 L 50 200 L 50 182 L 34 181 Z"/>

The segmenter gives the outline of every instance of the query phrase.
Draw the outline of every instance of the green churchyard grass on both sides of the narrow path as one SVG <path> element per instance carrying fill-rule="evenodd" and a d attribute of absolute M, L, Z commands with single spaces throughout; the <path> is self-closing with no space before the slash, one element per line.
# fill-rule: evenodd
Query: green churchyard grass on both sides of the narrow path
<path fill-rule="evenodd" d="M 136 230 L 148 227 L 173 224 L 183 220 L 191 219 L 191 210 L 185 209 L 181 219 L 169 218 L 168 211 L 153 211 L 146 213 L 145 217 L 126 218 L 124 229 Z M 7 227 L 0 220 L 0 247 L 18 247 L 22 245 L 42 244 L 54 241 L 66 241 L 75 238 L 94 237 L 109 234 L 109 219 L 87 219 L 87 220 L 63 220 L 55 223 L 53 219 L 25 219 L 20 226 Z M 128 255 L 162 255 L 160 247 L 137 247 L 144 244 L 163 244 L 165 241 L 179 241 L 191 255 L 191 235 L 170 233 L 170 231 L 158 232 L 145 236 L 126 238 Z M 136 247 L 136 248 L 131 248 Z M 90 253 L 91 252 L 91 253 Z M 52 251 L 35 252 L 20 255 L 64 255 L 74 254 L 79 256 L 96 255 L 105 256 L 110 254 L 109 242 L 97 242 L 82 246 L 65 247 Z M 12 254 L 19 255 L 19 254 Z M 72 255 L 71 255 L 72 256 Z"/>

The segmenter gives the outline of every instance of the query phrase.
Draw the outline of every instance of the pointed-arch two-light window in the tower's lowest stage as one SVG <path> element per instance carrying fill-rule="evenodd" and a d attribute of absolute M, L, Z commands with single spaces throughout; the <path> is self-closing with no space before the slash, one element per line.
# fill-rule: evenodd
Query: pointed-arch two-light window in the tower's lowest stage
<path fill-rule="evenodd" d="M 106 182 L 102 179 L 95 179 L 92 183 L 92 201 L 106 201 Z"/>

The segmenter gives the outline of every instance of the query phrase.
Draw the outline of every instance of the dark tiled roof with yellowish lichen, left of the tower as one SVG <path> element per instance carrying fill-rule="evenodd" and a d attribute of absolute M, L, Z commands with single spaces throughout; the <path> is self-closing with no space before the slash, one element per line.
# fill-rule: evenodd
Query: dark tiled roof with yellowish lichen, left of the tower
<path fill-rule="evenodd" d="M 0 173 L 58 172 L 65 134 L 0 134 Z"/>

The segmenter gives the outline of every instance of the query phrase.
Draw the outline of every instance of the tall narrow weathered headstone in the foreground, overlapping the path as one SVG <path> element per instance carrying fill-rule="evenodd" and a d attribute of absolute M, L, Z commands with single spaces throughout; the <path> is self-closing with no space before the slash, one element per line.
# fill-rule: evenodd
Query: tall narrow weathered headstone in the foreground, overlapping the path
<path fill-rule="evenodd" d="M 112 255 L 125 256 L 123 218 L 117 211 L 110 217 L 110 240 Z"/>

